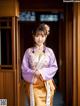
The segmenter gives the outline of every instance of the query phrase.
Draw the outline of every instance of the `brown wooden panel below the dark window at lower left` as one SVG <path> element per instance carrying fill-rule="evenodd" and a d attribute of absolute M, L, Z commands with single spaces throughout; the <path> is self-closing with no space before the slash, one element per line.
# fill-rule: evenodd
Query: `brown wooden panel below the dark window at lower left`
<path fill-rule="evenodd" d="M 15 106 L 14 71 L 0 71 L 0 99 L 7 99 L 8 106 Z"/>

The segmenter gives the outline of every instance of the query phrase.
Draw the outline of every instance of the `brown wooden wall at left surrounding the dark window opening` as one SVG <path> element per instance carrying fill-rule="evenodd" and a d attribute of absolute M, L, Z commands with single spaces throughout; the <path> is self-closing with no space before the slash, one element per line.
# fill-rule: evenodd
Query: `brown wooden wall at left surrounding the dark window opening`
<path fill-rule="evenodd" d="M 18 91 L 17 91 L 17 70 L 16 66 L 16 45 L 15 45 L 15 17 L 19 15 L 19 4 L 17 0 L 0 0 L 0 17 L 12 18 L 12 68 L 2 68 L 0 65 L 0 99 L 7 99 L 8 106 L 20 106 L 18 105 Z M 9 66 L 5 66 L 9 67 Z"/>

